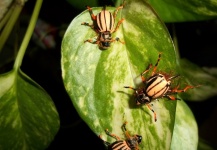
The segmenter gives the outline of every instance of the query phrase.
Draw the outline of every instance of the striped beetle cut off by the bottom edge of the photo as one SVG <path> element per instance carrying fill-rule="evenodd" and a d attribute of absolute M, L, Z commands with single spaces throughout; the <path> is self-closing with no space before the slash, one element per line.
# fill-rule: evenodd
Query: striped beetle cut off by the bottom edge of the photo
<path fill-rule="evenodd" d="M 141 135 L 130 136 L 129 133 L 127 132 L 126 124 L 127 124 L 127 122 L 125 122 L 123 124 L 123 129 L 125 131 L 125 136 L 127 137 L 126 140 L 121 140 L 115 134 L 110 133 L 108 131 L 108 129 L 105 130 L 106 134 L 108 136 L 111 136 L 111 137 L 115 138 L 116 139 L 115 142 L 109 143 L 107 141 L 104 141 L 101 138 L 101 136 L 99 136 L 99 138 L 105 143 L 105 145 L 108 146 L 108 150 L 139 150 L 139 146 L 138 145 L 142 141 L 142 136 Z"/>

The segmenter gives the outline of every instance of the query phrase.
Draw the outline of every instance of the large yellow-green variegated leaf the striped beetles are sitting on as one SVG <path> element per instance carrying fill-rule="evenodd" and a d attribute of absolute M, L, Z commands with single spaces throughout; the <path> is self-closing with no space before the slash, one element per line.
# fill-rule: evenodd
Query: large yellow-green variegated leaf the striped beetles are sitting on
<path fill-rule="evenodd" d="M 93 8 L 94 14 L 101 9 Z M 115 8 L 107 10 L 113 12 Z M 133 91 L 123 87 L 142 86 L 139 75 L 149 63 L 156 63 L 159 52 L 158 71 L 176 74 L 173 43 L 164 24 L 144 1 L 127 1 L 116 22 L 121 18 L 125 20 L 113 37 L 118 36 L 125 44 L 114 42 L 104 51 L 96 44 L 84 43 L 96 36 L 91 28 L 81 25 L 92 23 L 89 12 L 73 19 L 62 41 L 65 88 L 81 118 L 103 139 L 112 141 L 105 135 L 106 128 L 124 138 L 121 125 L 127 121 L 130 133 L 143 136 L 142 149 L 170 149 L 176 101 L 154 101 L 158 118 L 154 122 L 153 113 L 145 105 L 136 106 Z"/>

